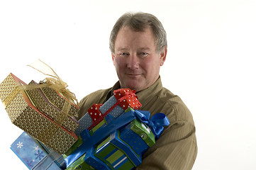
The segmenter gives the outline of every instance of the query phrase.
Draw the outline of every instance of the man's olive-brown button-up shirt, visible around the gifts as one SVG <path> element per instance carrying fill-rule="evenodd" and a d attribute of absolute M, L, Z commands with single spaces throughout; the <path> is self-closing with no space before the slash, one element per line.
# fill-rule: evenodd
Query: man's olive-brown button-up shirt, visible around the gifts
<path fill-rule="evenodd" d="M 78 119 L 94 103 L 105 103 L 119 88 L 117 82 L 110 89 L 85 96 L 80 102 Z M 155 145 L 143 154 L 143 162 L 136 169 L 192 169 L 197 155 L 196 129 L 192 115 L 181 98 L 162 87 L 161 78 L 136 95 L 142 104 L 140 110 L 150 111 L 151 116 L 165 113 L 170 122 Z"/>

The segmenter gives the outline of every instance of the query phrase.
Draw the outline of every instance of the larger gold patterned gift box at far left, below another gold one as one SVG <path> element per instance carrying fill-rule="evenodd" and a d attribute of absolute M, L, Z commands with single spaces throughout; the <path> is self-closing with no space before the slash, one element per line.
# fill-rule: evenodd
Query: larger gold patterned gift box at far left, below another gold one
<path fill-rule="evenodd" d="M 77 141 L 74 132 L 64 128 L 64 121 L 60 121 L 66 120 L 67 115 L 62 114 L 58 120 L 52 120 L 41 113 L 23 90 L 24 86 L 26 83 L 13 74 L 0 84 L 0 98 L 11 122 L 56 152 L 65 154 Z"/>

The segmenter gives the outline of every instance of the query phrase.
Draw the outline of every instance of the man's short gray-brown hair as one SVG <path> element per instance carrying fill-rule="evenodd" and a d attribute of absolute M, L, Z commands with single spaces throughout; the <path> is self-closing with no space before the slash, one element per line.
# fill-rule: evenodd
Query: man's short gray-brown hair
<path fill-rule="evenodd" d="M 150 13 L 125 13 L 116 21 L 109 38 L 109 48 L 112 53 L 115 52 L 115 42 L 118 31 L 121 27 L 128 26 L 132 30 L 143 32 L 145 28 L 152 28 L 155 35 L 155 46 L 158 53 L 167 47 L 167 35 L 162 23 Z"/>

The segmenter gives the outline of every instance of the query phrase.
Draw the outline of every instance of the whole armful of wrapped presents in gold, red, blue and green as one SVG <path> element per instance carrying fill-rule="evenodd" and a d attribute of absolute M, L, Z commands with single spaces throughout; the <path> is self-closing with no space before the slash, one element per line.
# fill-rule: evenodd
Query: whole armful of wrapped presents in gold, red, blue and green
<path fill-rule="evenodd" d="M 140 111 L 130 89 L 114 91 L 78 121 L 79 106 L 44 81 L 26 84 L 9 74 L 0 98 L 11 123 L 24 131 L 11 149 L 28 169 L 133 169 L 169 125 L 163 113 L 150 119 Z"/>

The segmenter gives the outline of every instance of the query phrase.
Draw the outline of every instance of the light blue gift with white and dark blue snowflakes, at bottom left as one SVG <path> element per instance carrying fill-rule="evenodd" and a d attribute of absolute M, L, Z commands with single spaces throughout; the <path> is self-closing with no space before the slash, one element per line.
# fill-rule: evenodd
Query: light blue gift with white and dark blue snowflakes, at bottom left
<path fill-rule="evenodd" d="M 40 144 L 23 132 L 17 140 L 11 144 L 11 150 L 18 156 L 28 169 L 60 169 L 50 155 L 40 147 Z"/>

